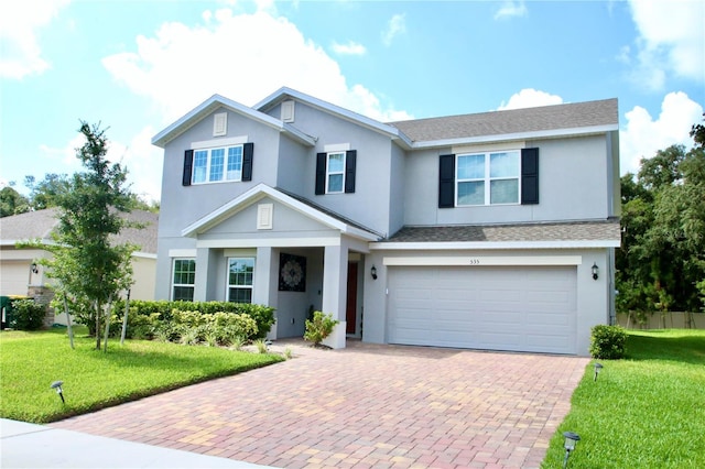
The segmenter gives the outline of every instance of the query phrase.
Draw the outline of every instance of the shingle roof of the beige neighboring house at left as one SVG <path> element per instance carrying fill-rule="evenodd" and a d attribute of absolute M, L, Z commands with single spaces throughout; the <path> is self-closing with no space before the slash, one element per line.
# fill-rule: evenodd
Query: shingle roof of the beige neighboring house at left
<path fill-rule="evenodd" d="M 47 208 L 0 218 L 0 240 L 12 243 L 36 238 L 48 240 L 52 230 L 58 223 L 57 214 L 57 208 Z M 131 221 L 145 225 L 145 228 L 123 229 L 117 237 L 118 242 L 131 242 L 140 246 L 140 252 L 155 254 L 159 215 L 151 211 L 133 210 L 126 216 Z"/>

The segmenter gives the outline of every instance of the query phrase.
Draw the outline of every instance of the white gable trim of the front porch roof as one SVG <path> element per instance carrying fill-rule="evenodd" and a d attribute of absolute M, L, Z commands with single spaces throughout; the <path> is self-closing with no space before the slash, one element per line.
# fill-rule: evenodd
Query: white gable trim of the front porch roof
<path fill-rule="evenodd" d="M 181 232 L 183 237 L 195 238 L 199 233 L 203 233 L 210 228 L 219 225 L 226 219 L 230 218 L 238 211 L 249 207 L 258 200 L 264 197 L 270 197 L 289 208 L 296 210 L 318 222 L 330 227 L 333 229 L 340 230 L 341 233 L 359 238 L 366 241 L 377 241 L 381 238 L 379 233 L 376 233 L 360 225 L 354 223 L 343 217 L 334 217 L 329 212 L 324 212 L 312 204 L 305 204 L 299 198 L 294 198 L 279 189 L 268 186 L 267 184 L 258 184 L 245 194 L 234 198 L 229 203 L 218 207 L 210 214 L 202 217 L 192 225 L 184 228 Z"/>

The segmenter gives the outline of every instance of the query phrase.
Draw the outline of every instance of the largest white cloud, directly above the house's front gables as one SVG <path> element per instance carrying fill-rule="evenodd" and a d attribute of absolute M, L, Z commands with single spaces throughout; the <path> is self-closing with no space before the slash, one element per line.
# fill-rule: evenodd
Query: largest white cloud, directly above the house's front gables
<path fill-rule="evenodd" d="M 102 59 L 120 83 L 152 100 L 171 123 L 214 94 L 251 106 L 282 86 L 386 121 L 398 111 L 349 87 L 335 62 L 285 18 L 204 14 L 206 24 L 164 23 L 137 52 Z"/>

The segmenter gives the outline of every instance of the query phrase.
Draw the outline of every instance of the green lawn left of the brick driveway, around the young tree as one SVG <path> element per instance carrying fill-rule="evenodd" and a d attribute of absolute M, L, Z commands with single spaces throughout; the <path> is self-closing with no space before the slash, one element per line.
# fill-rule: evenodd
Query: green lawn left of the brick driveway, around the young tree
<path fill-rule="evenodd" d="M 0 417 L 53 422 L 283 360 L 147 340 L 120 346 L 119 339 L 111 339 L 105 353 L 85 328 L 74 342 L 72 350 L 66 329 L 0 332 Z M 50 389 L 57 380 L 64 381 L 66 405 Z"/>

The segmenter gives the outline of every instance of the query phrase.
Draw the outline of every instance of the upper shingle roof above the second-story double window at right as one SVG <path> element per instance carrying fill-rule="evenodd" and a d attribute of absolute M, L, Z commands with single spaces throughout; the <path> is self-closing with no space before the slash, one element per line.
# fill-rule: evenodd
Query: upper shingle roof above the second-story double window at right
<path fill-rule="evenodd" d="M 390 122 L 413 142 L 616 126 L 617 99 Z"/>

